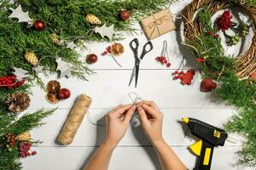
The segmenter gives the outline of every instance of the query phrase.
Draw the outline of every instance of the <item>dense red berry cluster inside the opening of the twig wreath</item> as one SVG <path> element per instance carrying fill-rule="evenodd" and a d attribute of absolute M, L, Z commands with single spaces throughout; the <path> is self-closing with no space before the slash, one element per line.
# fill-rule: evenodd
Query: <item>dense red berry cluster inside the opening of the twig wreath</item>
<path fill-rule="evenodd" d="M 222 14 L 217 20 L 218 30 L 222 30 L 222 31 L 229 30 L 230 27 L 232 26 L 231 19 L 232 19 L 232 15 L 230 14 L 230 11 L 229 10 L 224 11 L 224 14 Z"/>

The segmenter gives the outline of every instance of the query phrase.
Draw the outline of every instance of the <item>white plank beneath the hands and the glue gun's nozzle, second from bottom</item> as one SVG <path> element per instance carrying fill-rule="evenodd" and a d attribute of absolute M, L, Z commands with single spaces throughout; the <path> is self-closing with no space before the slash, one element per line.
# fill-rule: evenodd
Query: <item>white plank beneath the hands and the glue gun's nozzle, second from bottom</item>
<path fill-rule="evenodd" d="M 102 143 L 105 136 L 105 126 L 98 126 L 91 124 L 91 122 L 98 124 L 105 124 L 105 114 L 110 109 L 90 109 L 89 113 L 84 117 L 84 121 L 79 127 L 73 143 L 70 146 L 95 146 Z M 201 121 L 208 122 L 216 127 L 223 127 L 224 123 L 230 120 L 235 111 L 230 109 L 162 109 L 164 114 L 163 134 L 166 142 L 171 145 L 190 145 L 195 143 L 195 140 L 190 141 L 184 138 L 184 133 L 187 129 L 181 119 L 183 117 L 194 117 Z M 41 139 L 44 141 L 42 146 L 58 146 L 55 143 L 61 127 L 67 119 L 69 111 L 57 110 L 53 116 L 49 116 L 44 121 L 47 122 L 44 127 L 32 130 L 32 137 L 34 139 Z M 119 143 L 120 146 L 139 146 L 150 145 L 141 127 L 135 126 L 132 122 L 138 122 L 137 118 L 131 121 L 125 138 Z M 183 126 L 182 126 L 183 125 Z M 189 133 L 187 133 L 189 135 Z M 226 142 L 226 145 L 241 145 L 241 138 L 234 134 L 230 134 L 230 140 L 236 142 Z"/>

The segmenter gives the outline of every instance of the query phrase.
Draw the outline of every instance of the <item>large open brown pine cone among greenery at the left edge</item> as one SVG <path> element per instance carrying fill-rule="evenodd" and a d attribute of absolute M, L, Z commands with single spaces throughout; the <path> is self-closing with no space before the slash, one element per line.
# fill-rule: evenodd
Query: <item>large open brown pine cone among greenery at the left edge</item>
<path fill-rule="evenodd" d="M 21 112 L 29 107 L 30 99 L 27 94 L 17 92 L 15 94 L 9 94 L 5 104 L 8 105 L 9 111 Z"/>

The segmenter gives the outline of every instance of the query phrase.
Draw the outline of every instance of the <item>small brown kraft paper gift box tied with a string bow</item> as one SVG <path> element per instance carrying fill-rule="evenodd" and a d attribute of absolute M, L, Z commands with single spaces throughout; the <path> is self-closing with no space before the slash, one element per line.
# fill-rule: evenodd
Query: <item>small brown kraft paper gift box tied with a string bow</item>
<path fill-rule="evenodd" d="M 176 29 L 172 19 L 172 13 L 169 9 L 152 14 L 141 20 L 140 23 L 148 40 L 153 40 L 156 37 L 160 37 L 161 35 Z"/>

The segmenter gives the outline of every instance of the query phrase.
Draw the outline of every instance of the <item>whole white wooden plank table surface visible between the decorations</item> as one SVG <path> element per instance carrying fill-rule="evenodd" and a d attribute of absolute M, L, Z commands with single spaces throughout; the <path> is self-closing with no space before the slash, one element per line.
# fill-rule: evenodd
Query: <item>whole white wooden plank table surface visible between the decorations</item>
<path fill-rule="evenodd" d="M 173 4 L 171 6 L 173 14 L 177 14 L 189 2 L 184 1 L 183 3 Z M 139 26 L 136 27 L 140 28 Z M 143 44 L 147 40 L 141 34 L 141 31 L 138 31 L 138 34 L 136 37 L 139 39 L 140 49 L 142 49 Z M 122 42 L 125 45 L 125 54 L 118 58 L 119 63 L 123 66 L 122 68 L 119 68 L 111 57 L 100 56 L 109 43 L 88 43 L 90 52 L 100 56 L 99 61 L 95 65 L 90 65 L 90 68 L 96 71 L 96 74 L 88 77 L 89 82 L 79 81 L 75 78 L 62 78 L 60 80 L 61 86 L 69 88 L 72 92 L 70 99 L 61 101 L 57 105 L 49 105 L 44 99 L 44 91 L 38 87 L 32 88 L 32 104 L 28 111 L 36 111 L 42 107 L 50 109 L 56 106 L 59 109 L 55 111 L 53 116 L 49 116 L 49 118 L 44 120 L 44 122 L 47 122 L 44 127 L 32 131 L 32 137 L 43 140 L 44 143 L 33 148 L 38 150 L 37 156 L 31 156 L 22 160 L 24 169 L 80 169 L 84 166 L 84 162 L 92 151 L 96 150 L 98 144 L 101 144 L 105 128 L 90 124 L 88 115 L 84 118 L 84 122 L 79 128 L 73 144 L 61 146 L 55 143 L 55 139 L 67 119 L 70 108 L 79 94 L 88 94 L 93 99 L 88 113 L 93 122 L 100 120 L 115 105 L 131 103 L 131 99 L 128 97 L 130 92 L 136 92 L 143 99 L 154 100 L 160 106 L 165 116 L 163 133 L 167 143 L 170 144 L 189 169 L 195 166 L 195 156 L 187 150 L 187 147 L 195 141 L 189 141 L 189 139 L 184 138 L 183 127 L 178 121 L 184 116 L 190 116 L 212 125 L 223 127 L 223 124 L 230 120 L 230 116 L 236 114 L 234 108 L 225 105 L 218 98 L 212 97 L 212 94 L 200 92 L 201 76 L 198 71 L 190 86 L 183 86 L 179 81 L 172 80 L 172 72 L 177 70 L 182 56 L 192 57 L 189 53 L 183 53 L 183 47 L 180 50 L 176 31 L 167 33 L 153 41 L 154 50 L 143 59 L 141 64 L 138 87 L 136 89 L 133 87 L 129 88 L 128 82 L 134 65 L 129 42 L 135 36 L 125 35 L 125 37 L 125 40 Z M 160 55 L 164 40 L 168 42 L 168 53 L 172 62 L 170 69 L 166 69 L 165 66 L 160 65 L 154 59 Z M 85 56 L 88 54 L 88 51 L 80 51 L 80 53 Z M 196 66 L 188 62 L 184 65 L 184 68 L 196 69 Z M 56 77 L 44 77 L 44 82 L 47 83 L 52 79 L 56 79 Z M 236 155 L 236 151 L 241 149 L 241 138 L 238 138 L 235 134 L 230 136 L 232 140 L 236 141 L 236 144 L 226 142 L 224 147 L 215 149 L 212 169 L 249 169 L 238 164 L 239 156 Z M 141 128 L 129 127 L 125 138 L 122 139 L 117 149 L 114 150 L 109 169 L 160 169 L 157 156 L 147 139 L 145 139 Z"/>

